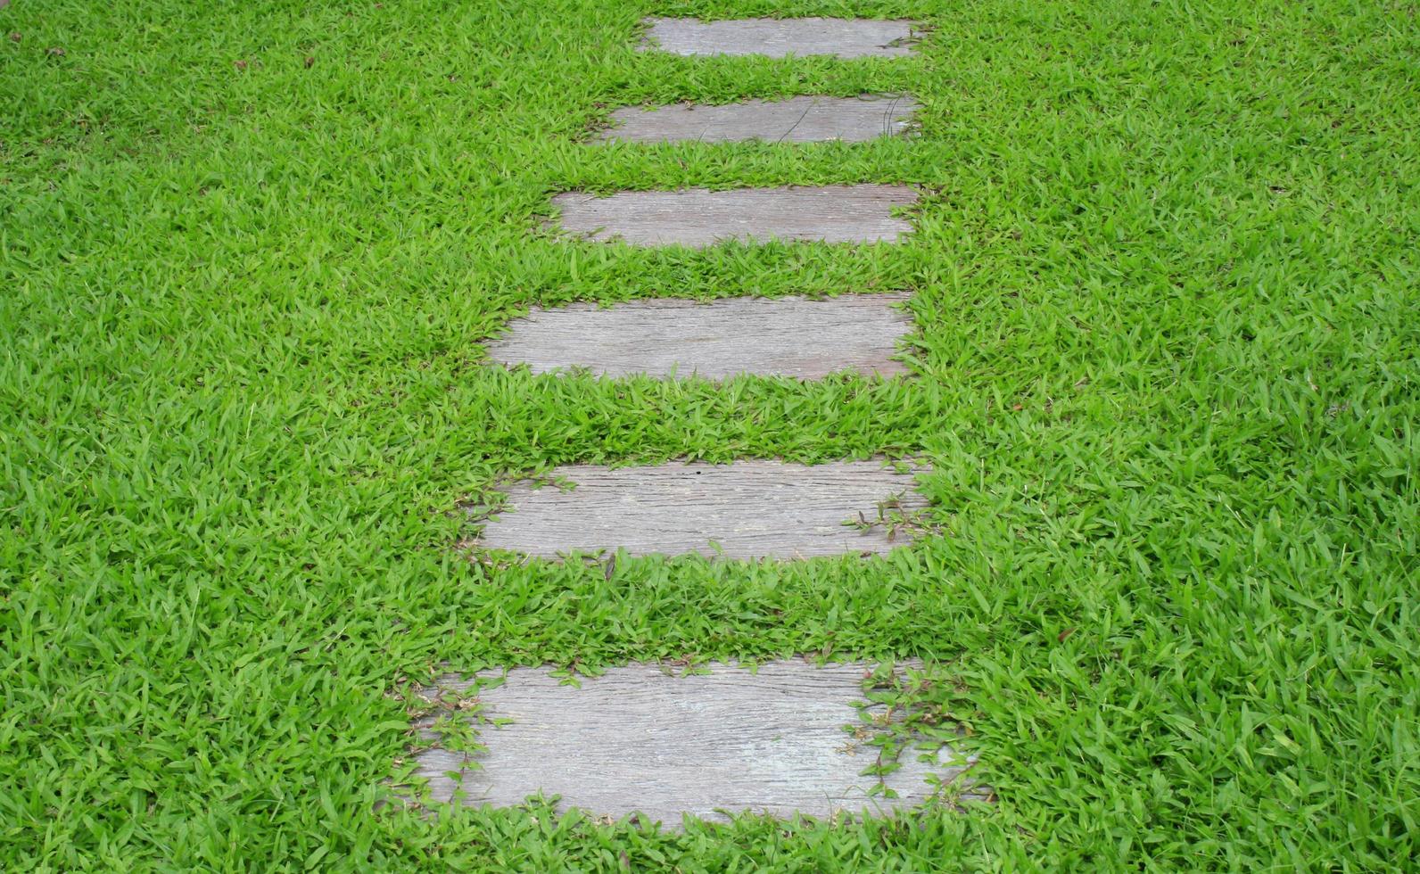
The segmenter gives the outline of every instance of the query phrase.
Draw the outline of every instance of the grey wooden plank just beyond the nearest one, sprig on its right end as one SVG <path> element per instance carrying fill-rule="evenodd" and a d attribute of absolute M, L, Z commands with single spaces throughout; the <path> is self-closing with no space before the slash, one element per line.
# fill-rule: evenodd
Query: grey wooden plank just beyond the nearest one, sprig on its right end
<path fill-rule="evenodd" d="M 618 548 L 730 559 L 872 553 L 910 541 L 902 518 L 927 505 L 912 474 L 880 461 L 569 465 L 550 478 L 574 488 L 510 485 L 479 545 L 541 558 Z"/>

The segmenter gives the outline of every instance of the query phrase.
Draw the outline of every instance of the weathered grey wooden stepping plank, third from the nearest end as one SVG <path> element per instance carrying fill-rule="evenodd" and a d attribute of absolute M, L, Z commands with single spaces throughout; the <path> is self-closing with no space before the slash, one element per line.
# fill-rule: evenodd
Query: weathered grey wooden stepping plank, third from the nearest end
<path fill-rule="evenodd" d="M 821 379 L 855 370 L 893 376 L 890 360 L 912 331 L 906 294 L 804 298 L 638 301 L 609 309 L 574 304 L 534 309 L 488 345 L 488 358 L 534 373 L 585 367 L 599 376 L 738 373 Z"/>

